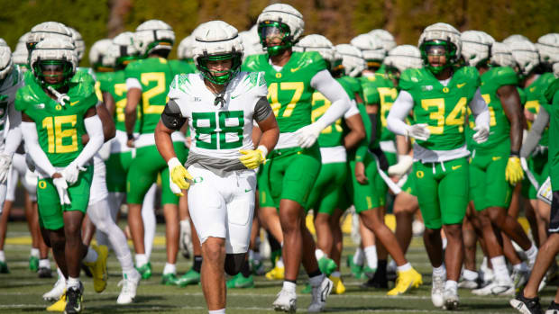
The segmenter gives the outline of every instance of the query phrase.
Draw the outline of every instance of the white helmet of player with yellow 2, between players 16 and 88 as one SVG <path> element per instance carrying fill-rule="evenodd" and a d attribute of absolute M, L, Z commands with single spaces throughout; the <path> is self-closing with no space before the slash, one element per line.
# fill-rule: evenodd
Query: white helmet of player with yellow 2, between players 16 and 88
<path fill-rule="evenodd" d="M 166 22 L 150 20 L 142 22 L 136 28 L 134 45 L 142 56 L 147 56 L 153 50 L 171 50 L 175 43 L 175 32 Z"/>

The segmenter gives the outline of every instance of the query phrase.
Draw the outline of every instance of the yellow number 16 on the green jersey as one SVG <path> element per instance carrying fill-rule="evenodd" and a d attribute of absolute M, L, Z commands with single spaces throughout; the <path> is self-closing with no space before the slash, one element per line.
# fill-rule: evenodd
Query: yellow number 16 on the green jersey
<path fill-rule="evenodd" d="M 46 117 L 42 128 L 47 130 L 49 154 L 73 153 L 78 151 L 77 115 Z"/>

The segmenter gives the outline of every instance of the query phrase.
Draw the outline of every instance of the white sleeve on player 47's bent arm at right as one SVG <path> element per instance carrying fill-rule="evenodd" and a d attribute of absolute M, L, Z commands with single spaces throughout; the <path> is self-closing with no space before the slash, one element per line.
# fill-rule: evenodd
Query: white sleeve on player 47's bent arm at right
<path fill-rule="evenodd" d="M 316 121 L 322 123 L 324 127 L 334 123 L 350 108 L 350 99 L 345 93 L 344 87 L 334 80 L 328 70 L 321 70 L 316 73 L 311 79 L 310 85 L 324 94 L 332 103 L 325 114 Z"/>

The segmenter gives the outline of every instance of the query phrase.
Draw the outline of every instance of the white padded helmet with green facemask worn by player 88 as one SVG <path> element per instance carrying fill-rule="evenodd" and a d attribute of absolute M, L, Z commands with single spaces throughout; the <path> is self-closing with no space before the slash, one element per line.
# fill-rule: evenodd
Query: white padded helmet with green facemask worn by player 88
<path fill-rule="evenodd" d="M 194 63 L 207 80 L 215 84 L 227 84 L 241 67 L 243 42 L 237 29 L 223 21 L 205 22 L 197 27 L 194 36 Z M 206 66 L 212 59 L 231 58 L 233 63 L 222 76 L 215 76 Z"/>

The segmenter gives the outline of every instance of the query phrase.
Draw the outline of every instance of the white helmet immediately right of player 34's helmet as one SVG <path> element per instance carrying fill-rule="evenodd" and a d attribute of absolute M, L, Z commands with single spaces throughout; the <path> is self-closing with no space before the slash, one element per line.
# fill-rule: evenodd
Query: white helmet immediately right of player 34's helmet
<path fill-rule="evenodd" d="M 488 61 L 491 45 L 495 40 L 485 31 L 464 31 L 462 39 L 462 57 L 466 65 L 476 67 L 480 62 Z"/>

